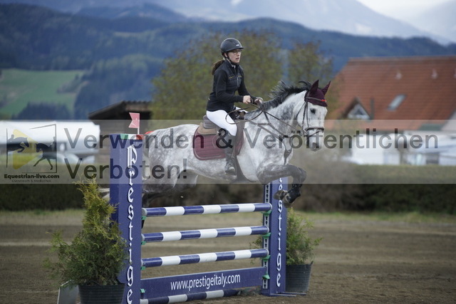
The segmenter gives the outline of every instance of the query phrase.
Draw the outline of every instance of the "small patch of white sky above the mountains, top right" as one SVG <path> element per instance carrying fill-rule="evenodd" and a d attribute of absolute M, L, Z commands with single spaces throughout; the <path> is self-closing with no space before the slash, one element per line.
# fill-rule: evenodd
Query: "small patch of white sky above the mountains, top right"
<path fill-rule="evenodd" d="M 358 0 L 380 14 L 395 19 L 407 19 L 408 16 L 421 13 L 437 4 L 450 0 Z"/>

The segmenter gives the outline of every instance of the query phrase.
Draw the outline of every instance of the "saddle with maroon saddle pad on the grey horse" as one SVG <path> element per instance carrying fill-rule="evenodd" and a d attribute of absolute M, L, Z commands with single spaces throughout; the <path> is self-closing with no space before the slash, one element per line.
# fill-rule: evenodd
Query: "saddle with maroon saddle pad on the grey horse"
<path fill-rule="evenodd" d="M 199 160 L 223 159 L 225 157 L 222 149 L 224 142 L 223 132 L 214 122 L 210 121 L 206 115 L 202 118 L 202 122 L 197 127 L 193 135 L 193 154 Z M 237 156 L 241 151 L 244 143 L 244 122 L 241 120 L 237 126 L 236 145 L 234 156 Z M 222 144 L 222 147 L 220 147 Z"/>

